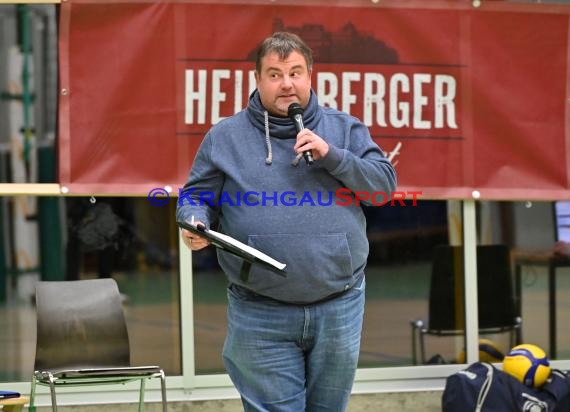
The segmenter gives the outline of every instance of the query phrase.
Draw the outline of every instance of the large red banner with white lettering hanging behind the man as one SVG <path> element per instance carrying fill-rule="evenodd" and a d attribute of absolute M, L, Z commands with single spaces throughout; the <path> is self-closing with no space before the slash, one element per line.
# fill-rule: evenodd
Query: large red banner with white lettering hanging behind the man
<path fill-rule="evenodd" d="M 62 2 L 60 183 L 147 194 L 186 180 L 247 103 L 275 31 L 315 55 L 319 102 L 362 119 L 399 190 L 570 197 L 570 7 L 503 2 Z"/>

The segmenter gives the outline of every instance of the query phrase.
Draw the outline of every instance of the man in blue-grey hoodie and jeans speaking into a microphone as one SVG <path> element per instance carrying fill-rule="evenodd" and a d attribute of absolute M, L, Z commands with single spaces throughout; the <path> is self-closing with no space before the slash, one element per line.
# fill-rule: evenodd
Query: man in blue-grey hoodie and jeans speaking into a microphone
<path fill-rule="evenodd" d="M 212 127 L 177 209 L 287 264 L 287 276 L 223 251 L 229 279 L 225 367 L 246 411 L 342 411 L 360 349 L 366 221 L 339 189 L 392 192 L 396 174 L 368 129 L 318 105 L 312 52 L 296 35 L 259 46 L 257 89 L 245 110 Z M 297 133 L 288 108 L 304 108 Z M 301 154 L 310 150 L 314 163 Z M 207 193 L 207 196 L 203 194 Z M 245 195 L 244 195 L 245 194 Z M 186 201 L 185 201 L 186 199 Z M 346 205 L 343 200 L 342 204 Z M 192 250 L 208 245 L 182 231 Z"/>

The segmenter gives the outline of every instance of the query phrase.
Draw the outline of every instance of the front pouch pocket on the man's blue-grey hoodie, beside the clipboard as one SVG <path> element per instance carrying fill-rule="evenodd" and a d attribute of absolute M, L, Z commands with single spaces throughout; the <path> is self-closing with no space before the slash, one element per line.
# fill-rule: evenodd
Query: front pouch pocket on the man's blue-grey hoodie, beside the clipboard
<path fill-rule="evenodd" d="M 289 280 L 312 279 L 321 286 L 333 286 L 352 278 L 352 258 L 345 233 L 249 235 L 248 244 L 285 263 Z M 267 270 L 254 265 L 252 280 L 257 275 L 272 276 L 261 272 Z M 263 283 L 259 277 L 256 280 Z"/>

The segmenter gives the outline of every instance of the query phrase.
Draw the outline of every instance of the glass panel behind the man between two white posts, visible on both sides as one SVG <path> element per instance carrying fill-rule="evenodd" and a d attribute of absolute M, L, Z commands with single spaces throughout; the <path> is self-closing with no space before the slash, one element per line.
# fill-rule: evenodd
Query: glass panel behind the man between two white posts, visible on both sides
<path fill-rule="evenodd" d="M 449 209 L 446 201 L 366 208 L 370 256 L 359 367 L 413 363 L 410 321 L 428 319 L 434 248 L 448 245 L 450 237 L 461 239 L 461 216 L 453 214 L 457 207 Z M 458 235 L 450 235 L 454 230 Z M 196 372 L 224 373 L 226 278 L 210 248 L 194 252 L 192 261 Z M 453 360 L 457 346 L 452 338 L 427 337 L 426 357 Z"/>

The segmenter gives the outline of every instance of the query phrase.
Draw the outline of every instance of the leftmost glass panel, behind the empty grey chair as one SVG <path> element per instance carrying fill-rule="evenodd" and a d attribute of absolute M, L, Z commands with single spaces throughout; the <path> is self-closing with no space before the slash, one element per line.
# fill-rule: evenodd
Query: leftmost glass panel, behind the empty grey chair
<path fill-rule="evenodd" d="M 114 278 L 132 364 L 181 374 L 175 204 L 153 207 L 146 198 L 124 197 L 0 200 L 0 381 L 27 381 L 33 370 L 39 279 Z"/>

